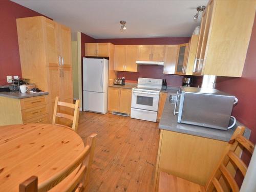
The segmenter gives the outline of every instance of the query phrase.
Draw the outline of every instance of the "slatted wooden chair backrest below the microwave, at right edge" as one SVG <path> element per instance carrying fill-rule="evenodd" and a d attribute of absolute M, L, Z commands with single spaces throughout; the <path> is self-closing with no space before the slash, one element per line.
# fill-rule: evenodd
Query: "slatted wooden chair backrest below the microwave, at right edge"
<path fill-rule="evenodd" d="M 245 148 L 250 154 L 253 153 L 255 145 L 243 137 L 243 133 L 245 131 L 244 126 L 238 126 L 236 131 L 234 132 L 233 136 L 228 142 L 228 146 L 225 148 L 223 156 L 216 168 L 215 172 L 210 177 L 209 181 L 207 182 L 205 189 L 206 191 L 213 191 L 214 189 L 218 192 L 224 191 L 221 182 L 219 179 L 221 176 L 225 178 L 225 181 L 229 184 L 230 188 L 233 192 L 239 191 L 238 184 L 236 180 L 234 180 L 233 176 L 230 174 L 229 170 L 227 169 L 228 162 L 231 162 L 235 167 L 237 167 L 243 176 L 245 176 L 247 172 L 246 164 L 234 153 L 237 147 L 240 145 Z"/>

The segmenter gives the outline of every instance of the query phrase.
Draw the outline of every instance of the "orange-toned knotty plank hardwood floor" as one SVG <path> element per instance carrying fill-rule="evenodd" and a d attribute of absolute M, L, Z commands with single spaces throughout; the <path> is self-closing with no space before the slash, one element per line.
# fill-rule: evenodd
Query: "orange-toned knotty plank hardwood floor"
<path fill-rule="evenodd" d="M 89 191 L 153 191 L 158 123 L 80 112 L 78 134 L 97 133 Z"/>

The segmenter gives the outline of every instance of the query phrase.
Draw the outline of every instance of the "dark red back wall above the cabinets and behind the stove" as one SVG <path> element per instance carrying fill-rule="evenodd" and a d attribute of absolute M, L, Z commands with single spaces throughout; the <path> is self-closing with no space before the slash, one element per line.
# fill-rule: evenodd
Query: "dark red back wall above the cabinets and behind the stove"
<path fill-rule="evenodd" d="M 114 45 L 177 45 L 189 41 L 190 37 L 160 37 L 160 38 L 116 38 L 96 39 L 97 42 L 111 42 Z M 125 77 L 126 82 L 137 82 L 139 77 L 165 78 L 168 86 L 181 86 L 183 76 L 164 75 L 162 66 L 139 66 L 139 72 L 118 71 L 117 77 Z"/>

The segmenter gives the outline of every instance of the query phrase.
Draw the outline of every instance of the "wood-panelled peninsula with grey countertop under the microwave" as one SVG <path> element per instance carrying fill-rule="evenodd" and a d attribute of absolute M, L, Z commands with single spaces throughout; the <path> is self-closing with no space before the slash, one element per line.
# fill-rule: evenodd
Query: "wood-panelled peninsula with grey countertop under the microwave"
<path fill-rule="evenodd" d="M 168 96 L 159 123 L 160 140 L 155 191 L 158 191 L 160 171 L 205 185 L 217 166 L 234 130 L 237 126 L 242 125 L 237 122 L 232 129 L 223 131 L 177 123 L 177 116 L 173 115 L 174 104 L 169 102 L 169 96 L 176 95 L 176 91 L 167 90 Z M 244 136 L 249 138 L 250 130 L 248 128 L 246 128 Z M 238 147 L 235 153 L 241 155 L 241 148 Z M 231 163 L 227 167 L 233 175 L 236 173 L 236 168 Z"/>

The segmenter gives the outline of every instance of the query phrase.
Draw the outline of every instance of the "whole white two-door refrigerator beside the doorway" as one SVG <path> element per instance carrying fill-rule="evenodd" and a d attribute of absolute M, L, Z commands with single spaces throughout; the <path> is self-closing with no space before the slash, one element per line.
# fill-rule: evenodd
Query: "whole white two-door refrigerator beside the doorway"
<path fill-rule="evenodd" d="M 83 111 L 107 113 L 109 60 L 83 58 Z"/>

